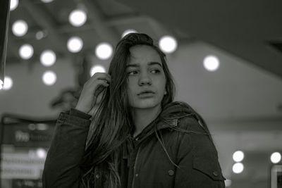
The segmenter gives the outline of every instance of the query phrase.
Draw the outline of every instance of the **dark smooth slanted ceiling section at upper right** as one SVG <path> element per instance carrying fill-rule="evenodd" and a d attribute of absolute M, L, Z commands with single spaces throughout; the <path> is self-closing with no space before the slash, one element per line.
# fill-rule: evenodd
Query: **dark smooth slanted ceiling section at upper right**
<path fill-rule="evenodd" d="M 118 1 L 282 77 L 280 0 Z"/>

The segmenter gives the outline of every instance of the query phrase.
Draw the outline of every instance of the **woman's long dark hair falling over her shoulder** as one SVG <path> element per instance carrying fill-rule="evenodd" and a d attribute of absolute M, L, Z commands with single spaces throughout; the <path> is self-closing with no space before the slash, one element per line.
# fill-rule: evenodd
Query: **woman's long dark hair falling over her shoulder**
<path fill-rule="evenodd" d="M 102 102 L 97 112 L 92 117 L 90 134 L 88 134 L 85 155 L 82 168 L 87 173 L 83 175 L 82 182 L 85 187 L 91 187 L 94 182 L 94 168 L 100 163 L 106 162 L 106 174 L 108 174 L 107 187 L 120 187 L 118 175 L 118 147 L 128 139 L 133 130 L 133 118 L 130 113 L 130 105 L 127 94 L 126 65 L 130 57 L 130 47 L 136 45 L 152 46 L 161 58 L 164 74 L 166 76 L 166 92 L 161 106 L 171 103 L 175 94 L 175 86 L 171 73 L 166 64 L 166 55 L 154 44 L 151 37 L 146 34 L 130 33 L 118 42 L 114 56 L 109 66 L 111 83 L 106 88 Z"/>

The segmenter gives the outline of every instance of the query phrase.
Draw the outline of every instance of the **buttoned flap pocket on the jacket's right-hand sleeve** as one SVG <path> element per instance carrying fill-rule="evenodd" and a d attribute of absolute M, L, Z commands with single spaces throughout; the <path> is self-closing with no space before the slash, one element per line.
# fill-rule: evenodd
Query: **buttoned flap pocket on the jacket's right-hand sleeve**
<path fill-rule="evenodd" d="M 226 180 L 221 173 L 219 161 L 216 158 L 195 156 L 192 163 L 195 170 L 199 170 L 204 175 L 212 178 L 212 180 Z"/>

